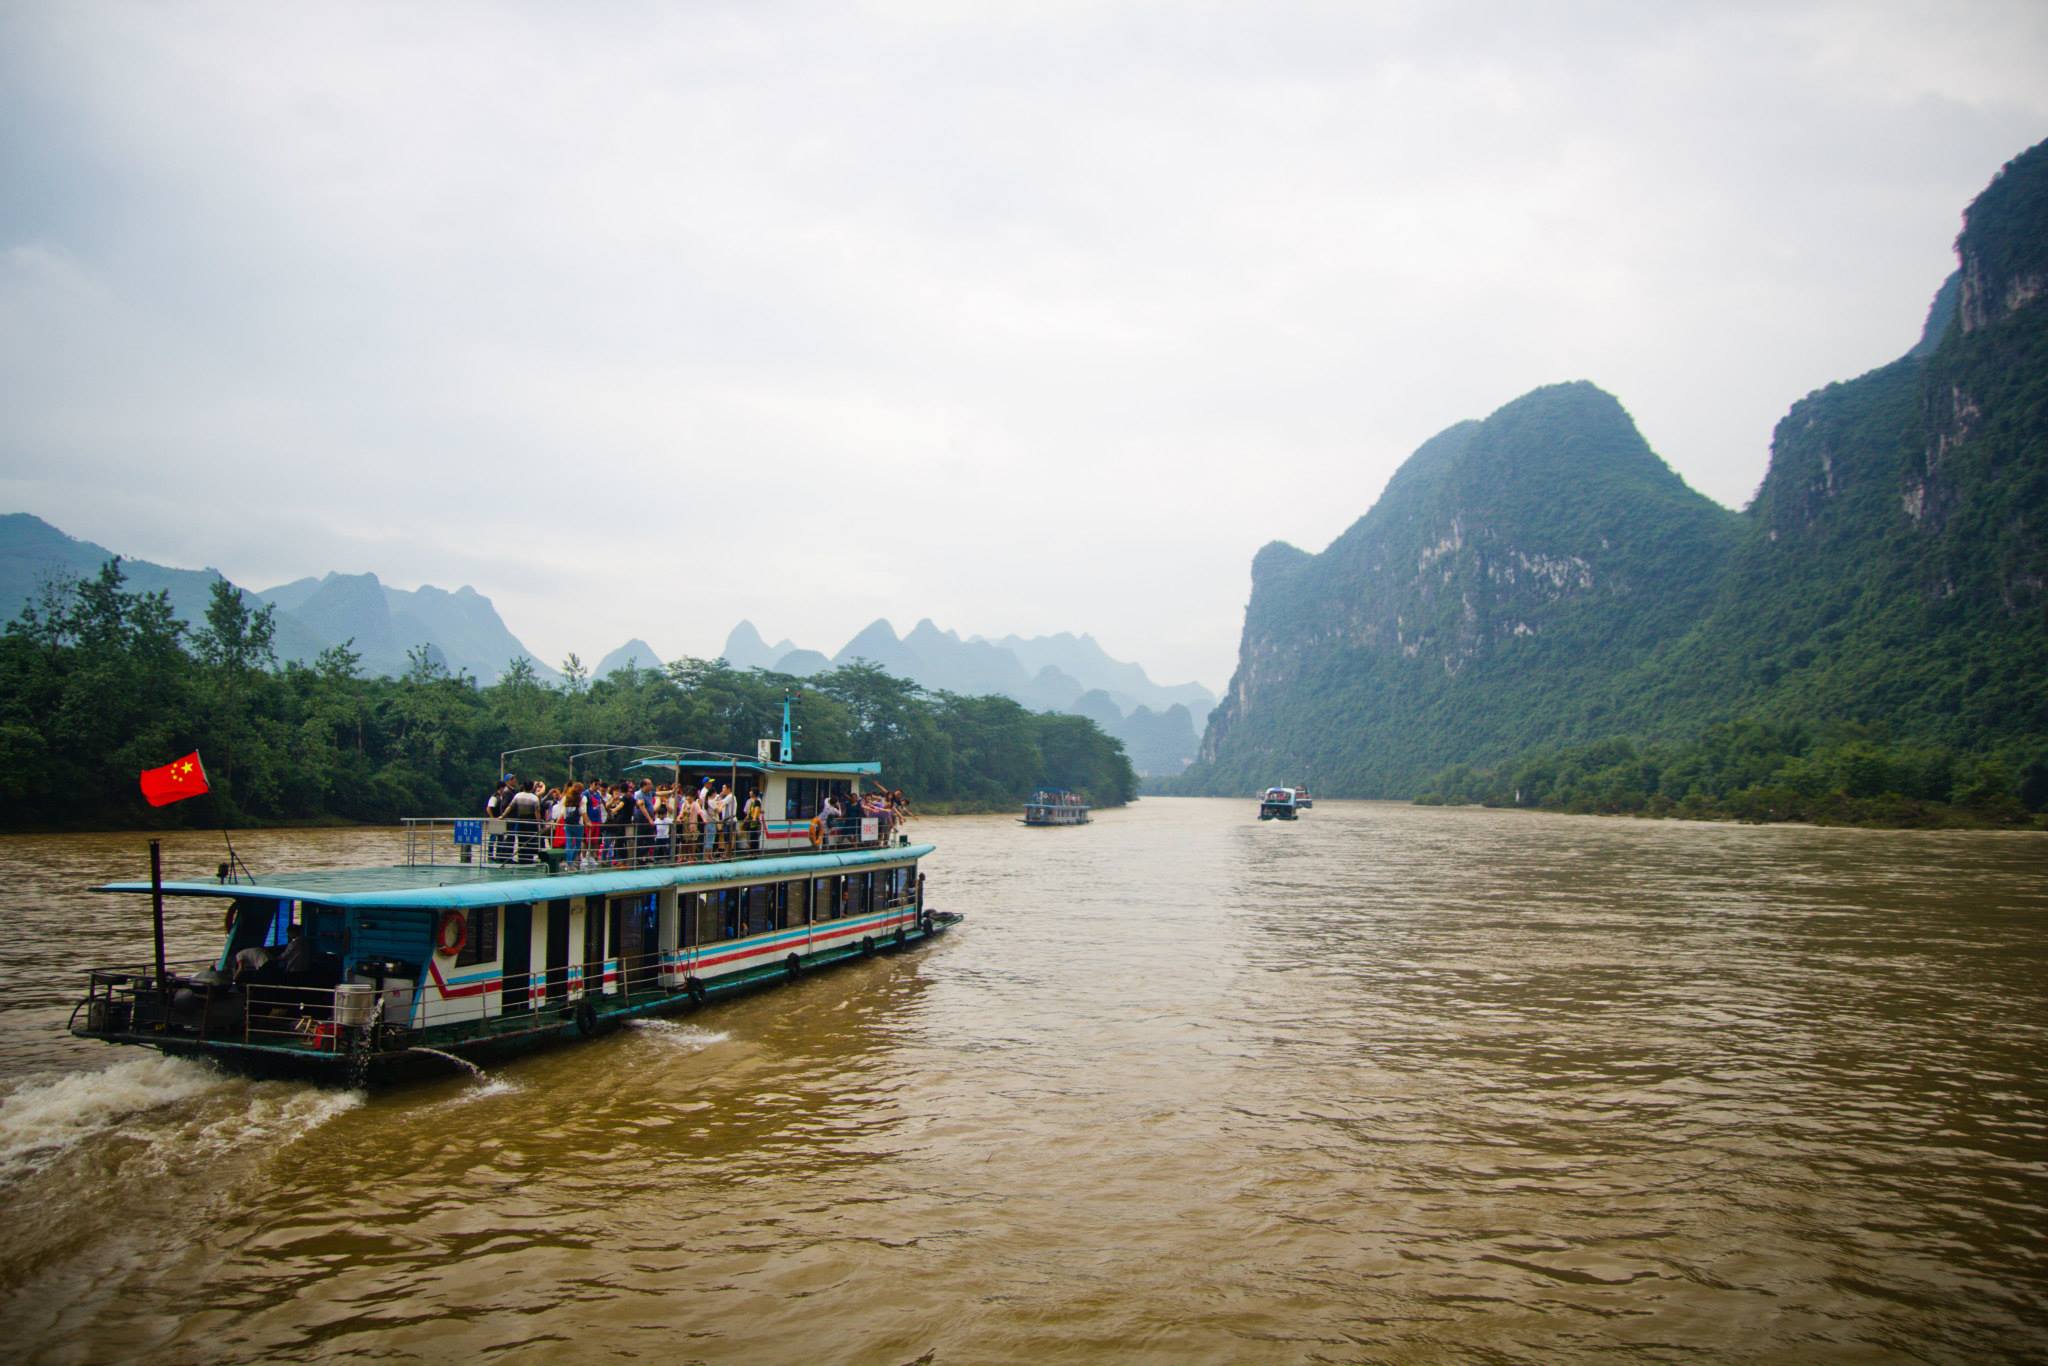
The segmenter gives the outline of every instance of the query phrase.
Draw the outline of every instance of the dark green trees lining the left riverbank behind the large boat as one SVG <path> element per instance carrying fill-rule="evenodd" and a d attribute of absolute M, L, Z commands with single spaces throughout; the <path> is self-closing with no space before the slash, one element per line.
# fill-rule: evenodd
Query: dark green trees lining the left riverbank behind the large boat
<path fill-rule="evenodd" d="M 129 592 L 119 561 L 55 584 L 0 635 L 0 799 L 12 829 L 393 821 L 481 811 L 508 750 L 561 741 L 754 754 L 799 690 L 797 758 L 881 760 L 889 786 L 946 809 L 1020 805 L 1034 786 L 1122 805 L 1137 776 L 1122 745 L 1083 717 L 1001 696 L 926 692 L 866 666 L 815 678 L 721 661 L 621 670 L 565 686 L 530 666 L 479 686 L 414 651 L 401 678 L 362 678 L 334 647 L 279 666 L 268 608 L 217 584 L 197 631 L 164 594 Z M 199 750 L 213 793 L 150 809 L 137 774 Z M 559 754 L 514 762 L 565 780 Z M 578 776 L 612 776 L 586 758 Z"/>

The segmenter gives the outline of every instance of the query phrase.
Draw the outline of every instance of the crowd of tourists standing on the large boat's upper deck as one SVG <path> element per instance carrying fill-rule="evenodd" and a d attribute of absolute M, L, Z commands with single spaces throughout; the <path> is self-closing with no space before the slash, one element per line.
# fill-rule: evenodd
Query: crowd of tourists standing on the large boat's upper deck
<path fill-rule="evenodd" d="M 692 788 L 688 782 L 655 786 L 653 778 L 549 786 L 545 778 L 520 782 L 504 774 L 483 815 L 504 821 L 504 829 L 492 834 L 492 862 L 539 862 L 543 856 L 571 868 L 698 862 L 758 854 L 768 838 L 760 793 L 741 799 L 729 780 L 709 776 Z M 864 827 L 868 819 L 872 834 Z M 887 844 L 907 819 L 909 799 L 901 791 L 827 793 L 807 834 L 813 848 Z"/>

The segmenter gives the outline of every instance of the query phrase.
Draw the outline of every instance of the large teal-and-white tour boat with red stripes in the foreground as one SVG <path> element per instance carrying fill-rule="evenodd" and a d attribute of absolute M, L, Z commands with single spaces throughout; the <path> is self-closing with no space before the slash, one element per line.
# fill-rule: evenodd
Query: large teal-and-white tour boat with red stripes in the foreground
<path fill-rule="evenodd" d="M 532 821 L 434 817 L 406 821 L 395 866 L 256 879 L 233 862 L 215 883 L 109 883 L 100 891 L 158 895 L 158 961 L 92 969 L 72 1032 L 367 1085 L 797 981 L 961 922 L 926 905 L 918 860 L 934 846 L 885 817 L 817 819 L 881 764 L 788 754 L 784 715 L 780 750 L 762 741 L 752 760 L 635 760 L 782 811 L 711 848 L 606 825 L 625 834 L 594 840 L 584 866 Z M 219 956 L 164 963 L 162 897 L 225 905 Z"/>

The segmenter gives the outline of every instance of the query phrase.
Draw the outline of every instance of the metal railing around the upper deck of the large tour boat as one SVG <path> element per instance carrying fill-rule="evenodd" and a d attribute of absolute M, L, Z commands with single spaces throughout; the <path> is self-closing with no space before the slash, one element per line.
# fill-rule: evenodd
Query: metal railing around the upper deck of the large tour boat
<path fill-rule="evenodd" d="M 893 815 L 848 815 L 838 821 L 743 821 L 670 825 L 657 834 L 643 823 L 567 825 L 494 817 L 406 817 L 406 866 L 545 866 L 666 868 L 676 864 L 731 862 L 815 850 L 877 850 L 895 844 L 903 821 Z"/>

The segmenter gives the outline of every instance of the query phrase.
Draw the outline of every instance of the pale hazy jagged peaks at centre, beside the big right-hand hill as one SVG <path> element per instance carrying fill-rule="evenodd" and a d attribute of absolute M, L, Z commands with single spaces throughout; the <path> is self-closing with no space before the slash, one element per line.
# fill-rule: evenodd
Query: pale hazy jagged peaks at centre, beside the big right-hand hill
<path fill-rule="evenodd" d="M 741 621 L 725 637 L 721 657 L 733 668 L 799 678 L 866 659 L 924 688 L 999 694 L 1032 711 L 1087 717 L 1124 741 L 1130 766 L 1147 776 L 1178 774 L 1194 760 L 1198 725 L 1217 705 L 1200 684 L 1155 684 L 1141 666 L 1112 659 L 1092 635 L 963 639 L 930 618 L 903 637 L 887 621 L 874 621 L 836 655 L 786 639 L 770 645 L 754 623 Z"/>

